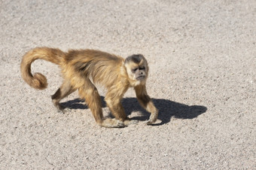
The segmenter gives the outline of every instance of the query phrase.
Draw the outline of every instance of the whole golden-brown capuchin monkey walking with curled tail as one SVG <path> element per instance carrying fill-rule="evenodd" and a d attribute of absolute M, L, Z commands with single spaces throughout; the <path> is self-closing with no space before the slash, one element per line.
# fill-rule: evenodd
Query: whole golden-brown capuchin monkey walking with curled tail
<path fill-rule="evenodd" d="M 51 96 L 53 105 L 58 110 L 64 109 L 59 101 L 78 90 L 99 126 L 128 126 L 138 121 L 130 120 L 126 116 L 121 100 L 128 88 L 133 87 L 140 105 L 151 113 L 147 124 L 150 125 L 157 120 L 157 108 L 146 91 L 148 62 L 142 54 L 123 59 L 99 50 L 69 50 L 65 53 L 59 49 L 37 47 L 23 56 L 20 69 L 23 79 L 29 86 L 44 90 L 47 87 L 46 77 L 41 73 L 31 73 L 31 64 L 35 59 L 53 62 L 62 70 L 63 83 Z M 103 117 L 101 98 L 94 83 L 100 83 L 107 89 L 105 102 L 114 118 Z"/>

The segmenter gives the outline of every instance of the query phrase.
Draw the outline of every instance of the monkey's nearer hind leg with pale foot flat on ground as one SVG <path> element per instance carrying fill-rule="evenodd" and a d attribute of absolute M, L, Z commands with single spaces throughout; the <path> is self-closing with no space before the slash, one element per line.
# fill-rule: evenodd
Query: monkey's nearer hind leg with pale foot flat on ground
<path fill-rule="evenodd" d="M 85 99 L 88 108 L 90 108 L 90 111 L 92 111 L 93 117 L 99 126 L 107 128 L 120 128 L 125 126 L 123 121 L 111 118 L 103 118 L 101 98 L 99 96 L 98 90 L 89 79 L 86 80 L 86 84 L 84 84 L 83 87 L 78 89 L 78 93 L 82 99 Z"/>

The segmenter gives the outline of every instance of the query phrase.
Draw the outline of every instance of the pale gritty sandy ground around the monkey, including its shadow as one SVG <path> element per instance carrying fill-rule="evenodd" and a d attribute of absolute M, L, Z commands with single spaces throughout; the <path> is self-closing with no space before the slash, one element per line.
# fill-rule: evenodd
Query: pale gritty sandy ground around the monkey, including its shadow
<path fill-rule="evenodd" d="M 0 26 L 1 169 L 256 168 L 256 1 L 2 0 Z M 133 90 L 123 106 L 137 125 L 97 126 L 78 93 L 58 113 L 56 65 L 32 65 L 47 90 L 20 77 L 23 54 L 41 46 L 143 53 L 159 120 L 145 125 Z"/>

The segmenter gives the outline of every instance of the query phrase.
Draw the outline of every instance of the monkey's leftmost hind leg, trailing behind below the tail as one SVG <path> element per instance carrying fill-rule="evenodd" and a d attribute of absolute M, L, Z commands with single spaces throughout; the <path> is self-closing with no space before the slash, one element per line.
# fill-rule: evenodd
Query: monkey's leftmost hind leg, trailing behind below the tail
<path fill-rule="evenodd" d="M 62 111 L 64 113 L 64 106 L 62 106 L 59 101 L 66 96 L 69 96 L 71 93 L 73 93 L 75 89 L 71 86 L 68 80 L 65 80 L 64 83 L 62 83 L 61 87 L 56 91 L 56 93 L 51 96 L 51 99 L 53 101 L 53 105 L 57 108 L 58 111 Z"/>

